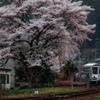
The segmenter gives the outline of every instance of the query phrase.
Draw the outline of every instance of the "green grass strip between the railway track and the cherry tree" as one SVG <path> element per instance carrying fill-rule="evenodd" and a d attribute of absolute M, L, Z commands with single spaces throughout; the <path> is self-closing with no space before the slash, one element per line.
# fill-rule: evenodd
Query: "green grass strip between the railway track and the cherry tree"
<path fill-rule="evenodd" d="M 22 89 L 19 90 L 15 88 L 13 90 L 0 90 L 0 92 L 7 93 L 9 95 L 1 96 L 1 98 L 18 98 L 18 97 L 27 97 L 27 96 L 34 96 L 37 95 L 34 92 L 38 91 L 39 94 L 51 94 L 51 93 L 63 93 L 63 92 L 78 92 L 85 90 L 81 87 L 43 87 L 43 88 L 32 88 L 32 89 Z"/>

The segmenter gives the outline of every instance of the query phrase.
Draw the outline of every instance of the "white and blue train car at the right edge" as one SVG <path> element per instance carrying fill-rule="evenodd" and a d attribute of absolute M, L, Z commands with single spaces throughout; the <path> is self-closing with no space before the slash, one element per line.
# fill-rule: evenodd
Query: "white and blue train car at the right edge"
<path fill-rule="evenodd" d="M 83 73 L 87 73 L 88 80 L 93 83 L 100 83 L 100 63 L 87 63 L 83 66 Z M 86 76 L 87 77 L 87 76 Z"/>

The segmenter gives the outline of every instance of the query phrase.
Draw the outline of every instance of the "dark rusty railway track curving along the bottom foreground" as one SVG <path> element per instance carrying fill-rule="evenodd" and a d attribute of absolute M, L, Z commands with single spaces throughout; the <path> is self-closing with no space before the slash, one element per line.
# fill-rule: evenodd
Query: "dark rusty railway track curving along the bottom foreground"
<path fill-rule="evenodd" d="M 74 92 L 74 93 L 48 94 L 48 95 L 30 96 L 25 98 L 14 98 L 14 99 L 12 98 L 12 99 L 0 99 L 0 100 L 62 100 L 64 98 L 67 99 L 72 97 L 80 97 L 96 93 L 100 93 L 100 88 L 82 92 Z"/>

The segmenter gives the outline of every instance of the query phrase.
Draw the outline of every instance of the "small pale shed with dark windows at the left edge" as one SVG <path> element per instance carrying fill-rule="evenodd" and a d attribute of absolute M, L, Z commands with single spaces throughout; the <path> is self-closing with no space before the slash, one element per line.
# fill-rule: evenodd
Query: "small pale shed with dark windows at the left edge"
<path fill-rule="evenodd" d="M 0 67 L 0 88 L 10 89 L 14 87 L 15 84 L 15 71 L 14 71 L 14 61 L 9 59 L 9 61 L 2 67 Z"/>

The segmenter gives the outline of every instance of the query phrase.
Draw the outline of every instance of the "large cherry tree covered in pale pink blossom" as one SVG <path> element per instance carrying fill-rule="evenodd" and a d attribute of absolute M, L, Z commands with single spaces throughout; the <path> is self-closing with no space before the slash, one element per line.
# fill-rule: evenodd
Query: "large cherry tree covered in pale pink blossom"
<path fill-rule="evenodd" d="M 18 60 L 30 83 L 35 75 L 31 68 L 46 70 L 54 65 L 54 57 L 62 63 L 66 52 L 79 52 L 79 44 L 94 33 L 95 25 L 86 22 L 94 9 L 82 1 L 8 2 L 0 7 L 0 59 Z"/>

